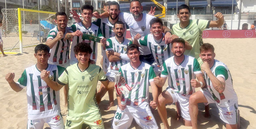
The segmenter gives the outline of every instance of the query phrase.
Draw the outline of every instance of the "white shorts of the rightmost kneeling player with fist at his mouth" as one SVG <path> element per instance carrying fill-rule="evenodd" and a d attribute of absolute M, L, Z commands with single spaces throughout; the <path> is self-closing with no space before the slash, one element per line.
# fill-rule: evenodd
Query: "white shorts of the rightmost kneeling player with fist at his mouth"
<path fill-rule="evenodd" d="M 208 104 L 216 104 L 215 100 L 212 98 L 212 94 L 208 89 L 200 90 L 204 97 L 207 99 L 208 103 L 204 103 L 204 105 Z M 223 122 L 235 125 L 238 122 L 238 102 L 236 102 L 233 106 L 230 107 L 220 107 L 216 104 L 219 109 L 219 117 Z"/>

